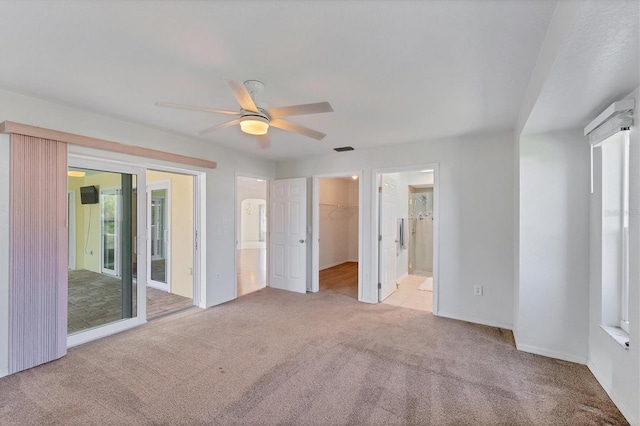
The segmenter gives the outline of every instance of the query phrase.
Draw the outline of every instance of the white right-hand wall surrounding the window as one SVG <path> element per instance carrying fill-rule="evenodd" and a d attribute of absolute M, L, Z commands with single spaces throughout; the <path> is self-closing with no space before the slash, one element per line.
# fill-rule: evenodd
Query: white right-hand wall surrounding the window
<path fill-rule="evenodd" d="M 600 210 L 600 150 L 594 150 L 594 195 L 591 197 L 591 274 L 589 283 L 588 366 L 620 411 L 632 424 L 640 424 L 640 88 L 630 134 L 629 205 L 629 341 L 624 349 L 600 324 L 602 318 L 602 215 Z M 585 142 L 586 143 L 586 142 Z"/>

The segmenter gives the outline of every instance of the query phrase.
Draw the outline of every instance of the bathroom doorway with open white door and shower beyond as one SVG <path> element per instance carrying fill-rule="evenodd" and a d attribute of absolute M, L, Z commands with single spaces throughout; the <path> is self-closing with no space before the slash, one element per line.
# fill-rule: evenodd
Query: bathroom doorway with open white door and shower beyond
<path fill-rule="evenodd" d="M 379 172 L 379 301 L 437 312 L 437 165 Z"/>

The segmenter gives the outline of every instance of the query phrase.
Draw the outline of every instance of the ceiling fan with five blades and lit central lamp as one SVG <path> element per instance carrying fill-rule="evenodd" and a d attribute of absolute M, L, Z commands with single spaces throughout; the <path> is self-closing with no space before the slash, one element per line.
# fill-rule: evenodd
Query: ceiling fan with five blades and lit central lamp
<path fill-rule="evenodd" d="M 300 135 L 317 140 L 321 140 L 326 136 L 325 133 L 300 126 L 290 121 L 283 120 L 282 118 L 292 115 L 333 112 L 333 108 L 331 108 L 329 102 L 268 108 L 264 102 L 256 101 L 256 97 L 264 89 L 264 83 L 257 80 L 247 80 L 243 84 L 235 80 L 228 80 L 227 84 L 231 89 L 231 93 L 233 93 L 233 96 L 240 104 L 240 111 L 228 111 L 195 105 L 174 104 L 171 102 L 156 102 L 156 105 L 165 108 L 187 109 L 192 111 L 204 111 L 213 112 L 216 114 L 239 116 L 239 118 L 209 127 L 198 132 L 197 134 L 204 135 L 214 130 L 223 129 L 225 127 L 235 126 L 236 124 L 239 124 L 240 130 L 247 134 L 256 136 L 256 138 L 258 139 L 258 144 L 263 148 L 271 145 L 268 135 L 269 126 L 286 130 L 288 132 L 298 133 Z"/>

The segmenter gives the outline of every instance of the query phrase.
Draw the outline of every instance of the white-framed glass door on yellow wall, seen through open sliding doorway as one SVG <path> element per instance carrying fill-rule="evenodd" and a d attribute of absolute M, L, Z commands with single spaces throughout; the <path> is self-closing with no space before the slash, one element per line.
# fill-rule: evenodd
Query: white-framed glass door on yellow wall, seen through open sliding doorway
<path fill-rule="evenodd" d="M 148 285 L 169 291 L 169 182 L 147 185 L 149 224 Z"/>

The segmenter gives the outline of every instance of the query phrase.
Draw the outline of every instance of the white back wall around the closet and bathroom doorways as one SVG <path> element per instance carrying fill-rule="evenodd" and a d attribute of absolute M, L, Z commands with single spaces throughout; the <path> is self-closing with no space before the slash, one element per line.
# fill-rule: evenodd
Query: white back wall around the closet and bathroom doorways
<path fill-rule="evenodd" d="M 460 136 L 278 163 L 278 178 L 363 170 L 363 300 L 377 302 L 372 270 L 375 170 L 439 163 L 439 315 L 511 328 L 513 134 Z M 491 190 L 487 190 L 491 188 Z M 484 296 L 473 296 L 473 285 Z"/>

